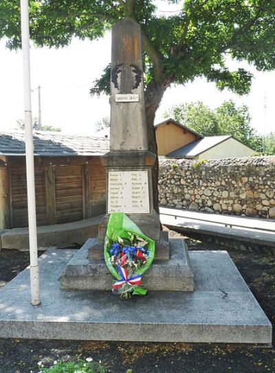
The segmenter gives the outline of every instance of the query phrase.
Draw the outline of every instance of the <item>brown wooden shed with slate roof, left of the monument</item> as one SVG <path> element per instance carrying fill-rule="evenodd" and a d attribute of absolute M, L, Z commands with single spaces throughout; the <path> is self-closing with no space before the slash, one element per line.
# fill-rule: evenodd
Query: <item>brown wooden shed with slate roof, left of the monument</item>
<path fill-rule="evenodd" d="M 37 225 L 104 214 L 109 140 L 34 132 Z M 28 227 L 24 132 L 0 132 L 0 229 Z"/>

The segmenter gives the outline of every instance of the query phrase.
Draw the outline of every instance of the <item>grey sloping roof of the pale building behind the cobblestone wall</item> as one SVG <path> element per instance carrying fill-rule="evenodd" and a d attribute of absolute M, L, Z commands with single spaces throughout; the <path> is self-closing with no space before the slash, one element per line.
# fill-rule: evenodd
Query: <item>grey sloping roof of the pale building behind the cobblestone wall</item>
<path fill-rule="evenodd" d="M 175 158 L 192 158 L 196 157 L 197 155 L 213 148 L 214 146 L 222 143 L 223 141 L 230 139 L 229 135 L 224 136 L 206 136 L 203 139 L 192 141 L 192 143 L 188 143 L 187 145 L 182 146 L 181 148 L 174 150 L 167 154 L 167 157 L 175 157 Z"/>

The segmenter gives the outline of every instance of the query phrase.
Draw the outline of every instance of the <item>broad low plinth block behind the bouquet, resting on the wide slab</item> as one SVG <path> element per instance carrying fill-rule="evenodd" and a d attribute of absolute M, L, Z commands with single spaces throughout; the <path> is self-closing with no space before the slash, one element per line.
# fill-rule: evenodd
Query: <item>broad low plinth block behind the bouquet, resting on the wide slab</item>
<path fill-rule="evenodd" d="M 103 247 L 101 257 L 93 243 L 96 239 L 89 239 L 74 255 L 61 276 L 62 289 L 78 290 L 110 290 L 113 276 L 104 262 Z M 89 257 L 93 259 L 88 259 Z M 98 258 L 100 259 L 94 259 Z M 142 276 L 142 285 L 148 290 L 173 290 L 192 292 L 194 290 L 194 276 L 189 265 L 189 255 L 184 241 L 170 240 L 170 259 L 154 260 L 151 267 Z"/>

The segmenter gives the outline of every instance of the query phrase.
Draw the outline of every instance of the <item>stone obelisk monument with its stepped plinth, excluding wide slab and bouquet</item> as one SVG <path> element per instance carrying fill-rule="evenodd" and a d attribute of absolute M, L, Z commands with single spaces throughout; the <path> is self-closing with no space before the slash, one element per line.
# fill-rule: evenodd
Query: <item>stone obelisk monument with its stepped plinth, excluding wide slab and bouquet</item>
<path fill-rule="evenodd" d="M 107 214 L 98 237 L 89 239 L 67 265 L 61 288 L 109 290 L 111 275 L 103 262 L 104 238 L 111 212 L 124 212 L 155 241 L 155 261 L 142 283 L 148 290 L 193 291 L 188 250 L 184 241 L 168 241 L 153 208 L 152 167 L 148 151 L 144 105 L 140 25 L 124 19 L 113 26 L 111 50 L 110 152 L 102 157 L 107 169 Z M 100 276 L 98 274 L 100 273 Z"/>

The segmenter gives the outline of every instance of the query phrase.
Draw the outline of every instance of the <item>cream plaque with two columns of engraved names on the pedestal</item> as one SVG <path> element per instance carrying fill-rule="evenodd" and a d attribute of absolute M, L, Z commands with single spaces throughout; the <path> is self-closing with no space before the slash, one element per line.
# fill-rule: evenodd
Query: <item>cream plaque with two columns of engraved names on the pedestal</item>
<path fill-rule="evenodd" d="M 109 171 L 108 214 L 149 214 L 148 171 Z"/>

